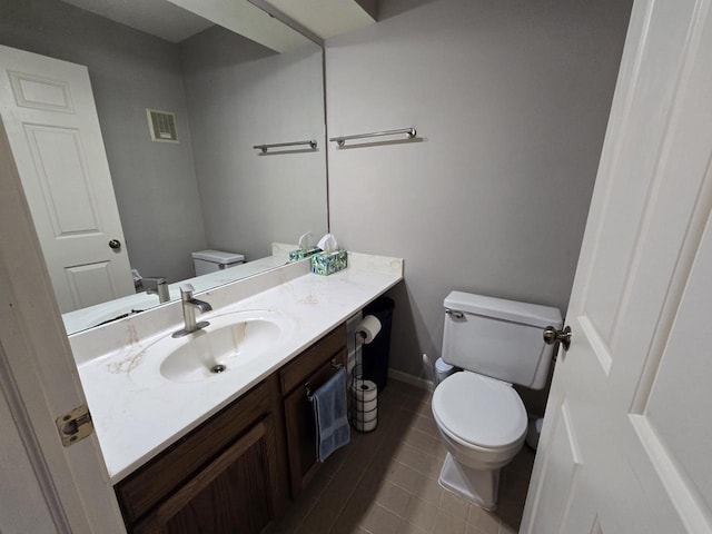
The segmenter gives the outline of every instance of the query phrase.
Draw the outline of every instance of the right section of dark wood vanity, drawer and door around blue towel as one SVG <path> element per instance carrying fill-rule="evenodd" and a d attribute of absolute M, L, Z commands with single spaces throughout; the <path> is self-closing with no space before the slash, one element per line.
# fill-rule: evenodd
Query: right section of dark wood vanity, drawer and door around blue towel
<path fill-rule="evenodd" d="M 346 325 L 340 325 L 279 372 L 293 497 L 309 484 L 322 465 L 316 455 L 314 412 L 305 385 L 314 392 L 338 366 L 346 366 L 347 355 Z"/>

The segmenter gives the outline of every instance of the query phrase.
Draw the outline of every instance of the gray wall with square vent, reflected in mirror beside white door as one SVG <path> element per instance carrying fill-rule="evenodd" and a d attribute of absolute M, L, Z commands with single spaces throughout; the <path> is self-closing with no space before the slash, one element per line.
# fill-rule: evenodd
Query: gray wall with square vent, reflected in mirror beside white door
<path fill-rule="evenodd" d="M 0 2 L 0 43 L 89 68 L 131 265 L 192 276 L 206 240 L 178 48 L 58 0 Z M 150 140 L 146 108 L 176 113 L 179 145 Z"/>

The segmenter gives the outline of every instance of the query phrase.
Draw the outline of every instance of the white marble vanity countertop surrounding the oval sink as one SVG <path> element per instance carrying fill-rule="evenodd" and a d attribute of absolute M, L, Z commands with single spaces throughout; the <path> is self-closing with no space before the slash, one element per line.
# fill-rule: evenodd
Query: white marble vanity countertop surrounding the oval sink
<path fill-rule="evenodd" d="M 294 273 L 296 268 L 286 267 L 285 270 L 291 269 Z M 269 276 L 265 275 L 265 279 Z M 274 276 L 273 274 L 270 279 Z M 236 364 L 225 373 L 202 382 L 177 383 L 160 379 L 146 383 L 136 379 L 137 374 L 132 374 L 131 369 L 147 365 L 137 356 L 181 326 L 175 323 L 168 328 L 160 328 L 165 325 L 165 319 L 160 320 L 158 315 L 155 316 L 157 320 L 154 324 L 160 330 L 151 335 L 138 335 L 141 327 L 132 326 L 130 319 L 125 319 L 110 325 L 111 329 L 107 329 L 105 335 L 90 332 L 83 337 L 81 334 L 73 339 L 70 337 L 112 483 L 122 479 L 396 285 L 403 279 L 403 261 L 349 253 L 349 268 L 340 273 L 323 277 L 299 271 L 293 276 L 296 277 L 283 275 L 289 279 L 279 280 L 274 287 L 199 317 L 201 320 L 210 320 L 210 317 L 225 313 L 260 309 L 276 312 L 294 326 L 290 335 L 278 342 L 267 354 Z M 258 278 L 254 277 L 250 284 L 259 286 Z M 226 286 L 198 295 L 198 298 L 208 301 L 211 297 L 215 297 L 214 301 L 225 300 L 226 297 L 220 291 L 231 290 L 235 294 L 239 287 Z M 142 320 L 146 320 L 150 318 L 146 317 L 148 314 L 159 314 L 161 309 L 164 308 L 149 310 L 136 317 L 144 316 Z M 171 314 L 172 320 L 176 317 L 175 310 Z M 112 339 L 126 339 L 128 343 L 116 343 Z M 115 343 L 115 346 L 97 352 L 99 342 L 109 345 Z M 88 352 L 96 354 L 88 355 Z"/>

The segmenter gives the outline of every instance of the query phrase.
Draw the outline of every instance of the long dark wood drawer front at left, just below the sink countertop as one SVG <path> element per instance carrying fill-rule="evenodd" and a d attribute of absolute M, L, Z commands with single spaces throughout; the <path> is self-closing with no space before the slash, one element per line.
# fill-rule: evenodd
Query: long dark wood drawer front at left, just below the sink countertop
<path fill-rule="evenodd" d="M 269 409 L 269 385 L 263 382 L 117 484 L 126 524 L 149 512 Z"/>

